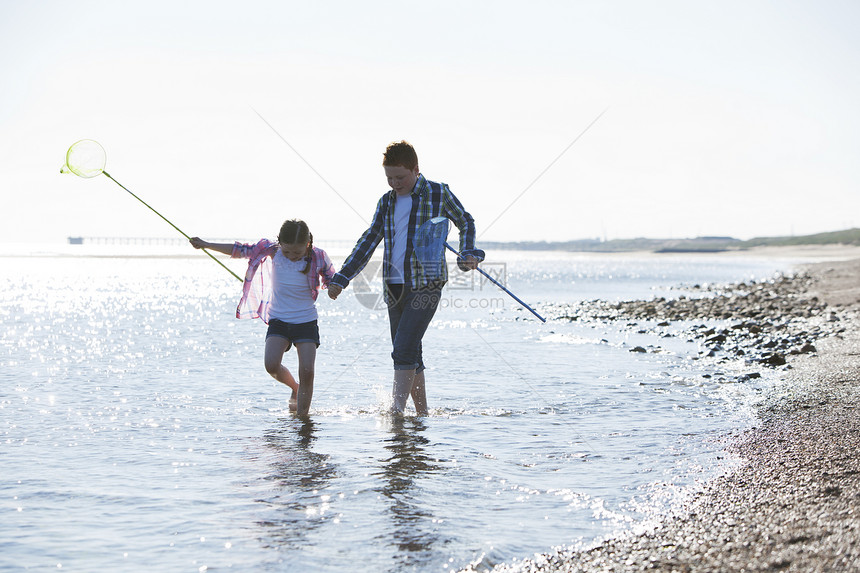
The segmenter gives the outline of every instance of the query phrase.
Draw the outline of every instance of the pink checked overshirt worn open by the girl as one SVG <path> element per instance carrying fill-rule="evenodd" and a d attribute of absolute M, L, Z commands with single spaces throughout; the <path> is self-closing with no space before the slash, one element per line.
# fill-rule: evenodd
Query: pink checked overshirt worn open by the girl
<path fill-rule="evenodd" d="M 272 302 L 272 257 L 278 252 L 278 243 L 269 239 L 260 239 L 256 244 L 236 242 L 233 244 L 234 259 L 250 259 L 248 270 L 245 272 L 245 282 L 242 285 L 242 298 L 236 308 L 236 318 L 259 318 L 269 323 L 269 305 Z M 308 286 L 311 296 L 317 299 L 320 289 L 328 287 L 334 276 L 334 267 L 326 252 L 317 247 L 313 248 L 311 268 L 308 269 Z M 259 271 L 259 272 L 258 272 Z"/>

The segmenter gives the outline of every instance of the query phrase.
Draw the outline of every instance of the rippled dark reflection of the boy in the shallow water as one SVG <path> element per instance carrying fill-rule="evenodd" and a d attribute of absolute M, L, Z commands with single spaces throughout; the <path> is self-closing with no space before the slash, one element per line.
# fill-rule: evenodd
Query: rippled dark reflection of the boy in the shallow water
<path fill-rule="evenodd" d="M 438 554 L 433 553 L 434 546 L 446 541 L 432 513 L 432 491 L 421 484 L 423 477 L 444 469 L 425 449 L 430 443 L 423 435 L 426 429 L 420 418 L 393 420 L 391 435 L 383 445 L 389 455 L 381 460 L 380 471 L 376 474 L 384 478 L 379 491 L 390 503 L 387 512 L 393 527 L 390 533 L 378 539 L 396 550 L 392 571 L 438 559 Z M 438 550 L 436 547 L 435 551 Z"/>

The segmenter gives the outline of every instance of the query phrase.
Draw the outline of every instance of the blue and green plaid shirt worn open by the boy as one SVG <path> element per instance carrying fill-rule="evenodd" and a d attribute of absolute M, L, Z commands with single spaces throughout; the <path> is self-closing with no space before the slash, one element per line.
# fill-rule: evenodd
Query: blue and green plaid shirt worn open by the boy
<path fill-rule="evenodd" d="M 346 288 L 349 281 L 355 278 L 370 260 L 380 241 L 384 241 L 385 247 L 382 276 L 383 280 L 388 282 L 391 272 L 389 257 L 391 257 L 394 242 L 395 199 L 396 194 L 393 189 L 382 196 L 376 205 L 376 212 L 373 214 L 370 228 L 355 244 L 352 254 L 343 263 L 340 272 L 332 278 L 332 283 Z M 409 214 L 409 229 L 406 240 L 406 261 L 408 264 L 404 265 L 406 283 L 411 284 L 413 289 L 419 289 L 430 283 L 430 280 L 425 278 L 421 264 L 413 253 L 415 231 L 425 222 L 439 216 L 450 219 L 460 230 L 459 250 L 461 255 L 464 257 L 472 255 L 478 260 L 484 258 L 484 252 L 475 249 L 475 221 L 472 216 L 466 212 L 445 183 L 428 181 L 419 174 L 415 187 L 412 189 L 412 211 Z M 441 282 L 444 283 L 447 280 L 448 270 L 443 266 Z M 440 279 L 433 282 L 438 283 Z"/>

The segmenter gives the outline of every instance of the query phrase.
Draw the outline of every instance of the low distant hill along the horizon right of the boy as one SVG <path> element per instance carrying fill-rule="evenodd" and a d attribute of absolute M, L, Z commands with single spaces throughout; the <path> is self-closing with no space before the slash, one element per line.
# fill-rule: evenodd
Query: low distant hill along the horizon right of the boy
<path fill-rule="evenodd" d="M 481 242 L 481 247 L 495 250 L 577 251 L 622 253 L 652 251 L 655 253 L 719 253 L 753 247 L 798 245 L 860 245 L 860 229 L 833 231 L 799 237 L 757 237 L 741 241 L 732 237 L 696 237 L 694 239 L 579 239 L 574 241 Z"/>

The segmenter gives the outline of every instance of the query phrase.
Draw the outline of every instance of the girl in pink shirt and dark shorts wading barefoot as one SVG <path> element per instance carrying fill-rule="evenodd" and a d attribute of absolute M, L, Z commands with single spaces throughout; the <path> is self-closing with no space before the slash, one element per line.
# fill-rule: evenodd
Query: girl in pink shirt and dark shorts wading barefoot
<path fill-rule="evenodd" d="M 266 332 L 266 372 L 290 387 L 290 410 L 307 416 L 314 393 L 314 361 L 320 345 L 316 299 L 327 288 L 334 268 L 304 221 L 292 219 L 281 225 L 278 241 L 260 239 L 254 245 L 239 242 L 209 243 L 191 238 L 195 249 L 212 249 L 234 259 L 250 259 L 236 318 L 260 318 Z M 295 345 L 299 356 L 299 383 L 281 364 L 284 353 Z"/>

